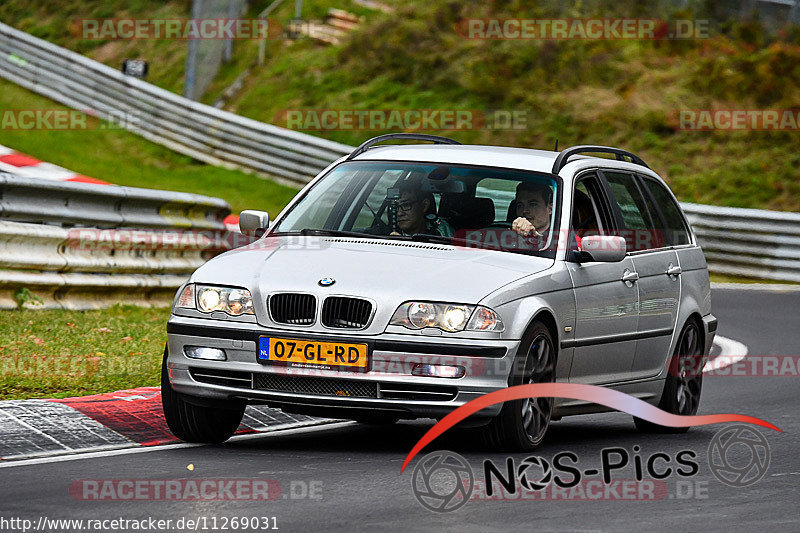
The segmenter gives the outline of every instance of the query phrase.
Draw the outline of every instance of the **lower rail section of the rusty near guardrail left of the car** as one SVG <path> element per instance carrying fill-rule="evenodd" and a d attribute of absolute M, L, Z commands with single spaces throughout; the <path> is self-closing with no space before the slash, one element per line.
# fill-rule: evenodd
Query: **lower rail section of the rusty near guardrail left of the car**
<path fill-rule="evenodd" d="M 225 230 L 62 228 L 0 220 L 0 309 L 168 305 L 218 253 L 251 242 Z M 41 300 L 41 301 L 38 301 Z"/>

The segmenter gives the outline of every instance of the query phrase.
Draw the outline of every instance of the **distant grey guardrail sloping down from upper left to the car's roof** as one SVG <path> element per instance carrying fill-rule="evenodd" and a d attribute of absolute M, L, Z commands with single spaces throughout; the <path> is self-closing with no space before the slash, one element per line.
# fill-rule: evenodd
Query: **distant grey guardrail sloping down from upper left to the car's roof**
<path fill-rule="evenodd" d="M 352 150 L 193 102 L 2 23 L 0 76 L 200 161 L 294 185 Z"/>

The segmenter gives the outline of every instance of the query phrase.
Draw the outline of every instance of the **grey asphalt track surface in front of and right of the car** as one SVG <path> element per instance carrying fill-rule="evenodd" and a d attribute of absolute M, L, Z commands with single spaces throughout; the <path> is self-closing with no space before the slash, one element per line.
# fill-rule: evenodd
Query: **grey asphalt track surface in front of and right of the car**
<path fill-rule="evenodd" d="M 800 354 L 798 308 L 800 292 L 713 293 L 719 334 L 743 342 L 751 355 Z M 21 531 L 19 522 L 17 528 L 2 523 L 11 518 L 26 518 L 36 526 L 42 517 L 173 521 L 205 517 L 205 523 L 196 529 L 213 531 L 215 525 L 221 530 L 224 517 L 269 517 L 270 526 L 277 525 L 280 531 L 800 530 L 800 377 L 706 378 L 700 414 L 731 412 L 765 419 L 783 430 L 759 428 L 769 443 L 771 460 L 765 476 L 744 488 L 721 483 L 708 466 L 709 443 L 724 425 L 693 428 L 678 435 L 642 434 L 629 415 L 609 413 L 552 424 L 548 439 L 533 455 L 550 459 L 569 450 L 578 455 L 583 470 L 600 467 L 601 450 L 608 447 L 626 448 L 633 456 L 634 446 L 638 446 L 638 455 L 645 462 L 656 452 L 674 458 L 680 451 L 691 450 L 697 456 L 697 474 L 665 479 L 665 485 L 659 487 L 666 492 L 662 490 L 655 500 L 620 500 L 611 491 L 608 498 L 599 500 L 471 500 L 455 511 L 437 513 L 424 509 L 411 490 L 412 469 L 422 454 L 400 473 L 406 454 L 430 424 L 370 427 L 345 423 L 238 438 L 220 446 L 177 445 L 8 465 L 0 468 L 0 529 Z M 445 435 L 424 453 L 436 449 L 466 457 L 477 478 L 483 477 L 484 459 L 505 464 L 506 454 L 487 452 L 474 444 L 468 433 Z M 514 455 L 515 464 L 527 455 Z M 633 479 L 633 466 L 613 475 L 615 480 Z M 275 480 L 281 485 L 281 495 L 259 502 L 98 502 L 76 499 L 69 490 L 85 479 L 219 478 Z M 317 497 L 307 497 L 309 492 Z M 107 524 L 107 529 L 112 529 L 111 523 Z M 178 529 L 173 524 L 162 530 Z"/>

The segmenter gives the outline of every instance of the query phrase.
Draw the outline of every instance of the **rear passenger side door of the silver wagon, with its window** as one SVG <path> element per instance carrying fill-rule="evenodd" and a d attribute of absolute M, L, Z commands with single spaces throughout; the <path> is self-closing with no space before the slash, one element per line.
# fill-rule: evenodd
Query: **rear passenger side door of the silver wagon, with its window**
<path fill-rule="evenodd" d="M 639 321 L 632 378 L 658 374 L 667 358 L 681 295 L 680 267 L 664 215 L 637 175 L 603 171 L 625 227 L 639 279 Z"/>

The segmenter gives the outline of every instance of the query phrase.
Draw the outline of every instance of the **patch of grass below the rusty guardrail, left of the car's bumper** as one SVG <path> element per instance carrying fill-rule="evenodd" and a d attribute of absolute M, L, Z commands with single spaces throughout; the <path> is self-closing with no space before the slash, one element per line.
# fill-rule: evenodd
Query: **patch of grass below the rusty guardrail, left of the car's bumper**
<path fill-rule="evenodd" d="M 167 308 L 0 311 L 0 400 L 159 384 Z"/>

